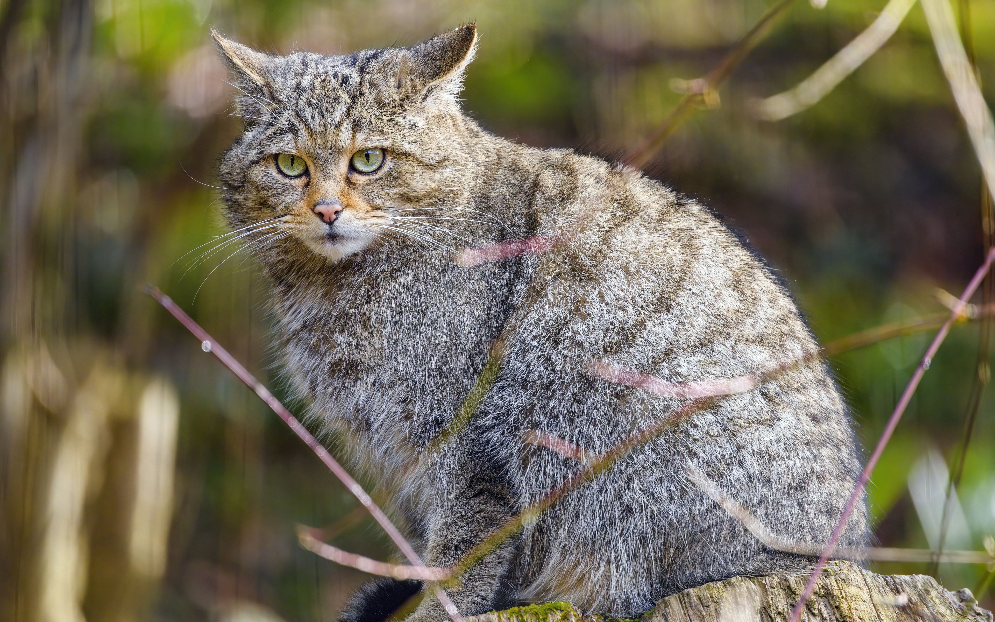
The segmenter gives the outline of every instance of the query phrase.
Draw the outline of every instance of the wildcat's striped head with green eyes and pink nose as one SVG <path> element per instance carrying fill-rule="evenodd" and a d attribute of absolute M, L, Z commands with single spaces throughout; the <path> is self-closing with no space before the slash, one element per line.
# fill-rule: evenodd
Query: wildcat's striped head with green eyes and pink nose
<path fill-rule="evenodd" d="M 212 36 L 245 119 L 220 171 L 233 227 L 257 248 L 296 239 L 333 262 L 379 241 L 442 246 L 447 206 L 468 192 L 459 93 L 476 26 L 331 57 Z"/>

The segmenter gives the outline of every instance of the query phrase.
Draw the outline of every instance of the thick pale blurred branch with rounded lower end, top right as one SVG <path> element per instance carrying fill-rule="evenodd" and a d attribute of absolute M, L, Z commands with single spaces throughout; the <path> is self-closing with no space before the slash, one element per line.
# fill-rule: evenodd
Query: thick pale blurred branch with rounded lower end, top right
<path fill-rule="evenodd" d="M 867 30 L 797 87 L 751 102 L 753 115 L 776 121 L 818 103 L 892 38 L 913 4 L 915 0 L 891 0 Z"/>

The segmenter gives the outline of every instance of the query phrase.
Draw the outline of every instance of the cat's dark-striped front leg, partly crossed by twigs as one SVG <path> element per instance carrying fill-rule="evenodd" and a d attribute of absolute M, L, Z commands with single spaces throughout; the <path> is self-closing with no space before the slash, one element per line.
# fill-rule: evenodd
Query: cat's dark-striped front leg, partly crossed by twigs
<path fill-rule="evenodd" d="M 448 566 L 494 533 L 515 511 L 506 485 L 485 465 L 467 465 L 456 494 L 447 495 L 430 527 L 425 563 Z M 457 581 L 446 584 L 447 594 L 464 616 L 486 613 L 495 608 L 504 577 L 517 547 L 512 535 L 499 542 Z M 425 597 L 408 622 L 444 622 L 449 614 L 431 585 L 423 587 Z"/>

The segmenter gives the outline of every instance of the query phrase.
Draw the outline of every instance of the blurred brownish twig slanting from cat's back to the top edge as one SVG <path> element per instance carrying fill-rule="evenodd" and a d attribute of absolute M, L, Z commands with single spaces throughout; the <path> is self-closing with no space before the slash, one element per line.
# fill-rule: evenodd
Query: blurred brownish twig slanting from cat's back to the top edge
<path fill-rule="evenodd" d="M 698 78 L 689 82 L 694 85 L 689 89 L 689 93 L 681 98 L 681 101 L 664 117 L 660 126 L 650 135 L 646 141 L 633 151 L 625 160 L 625 163 L 636 168 L 642 168 L 663 146 L 667 138 L 674 133 L 674 130 L 685 120 L 688 114 L 694 110 L 694 104 L 701 101 L 707 102 L 709 98 L 714 100 L 715 90 L 725 82 L 732 70 L 735 69 L 743 59 L 756 47 L 756 44 L 770 30 L 776 19 L 784 14 L 794 0 L 781 0 L 770 9 L 753 25 L 753 28 L 736 42 L 722 60 L 708 72 L 704 78 Z"/>

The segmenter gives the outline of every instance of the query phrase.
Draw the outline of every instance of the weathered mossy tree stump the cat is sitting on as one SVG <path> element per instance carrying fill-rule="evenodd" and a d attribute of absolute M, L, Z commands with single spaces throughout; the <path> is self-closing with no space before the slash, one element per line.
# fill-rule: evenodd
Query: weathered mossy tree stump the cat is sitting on
<path fill-rule="evenodd" d="M 639 622 L 782 622 L 791 617 L 804 575 L 734 577 L 664 598 Z M 612 622 L 568 603 L 544 603 L 466 618 L 467 622 Z M 802 622 L 992 622 L 967 589 L 951 592 L 921 574 L 875 574 L 849 561 L 831 562 Z"/>

